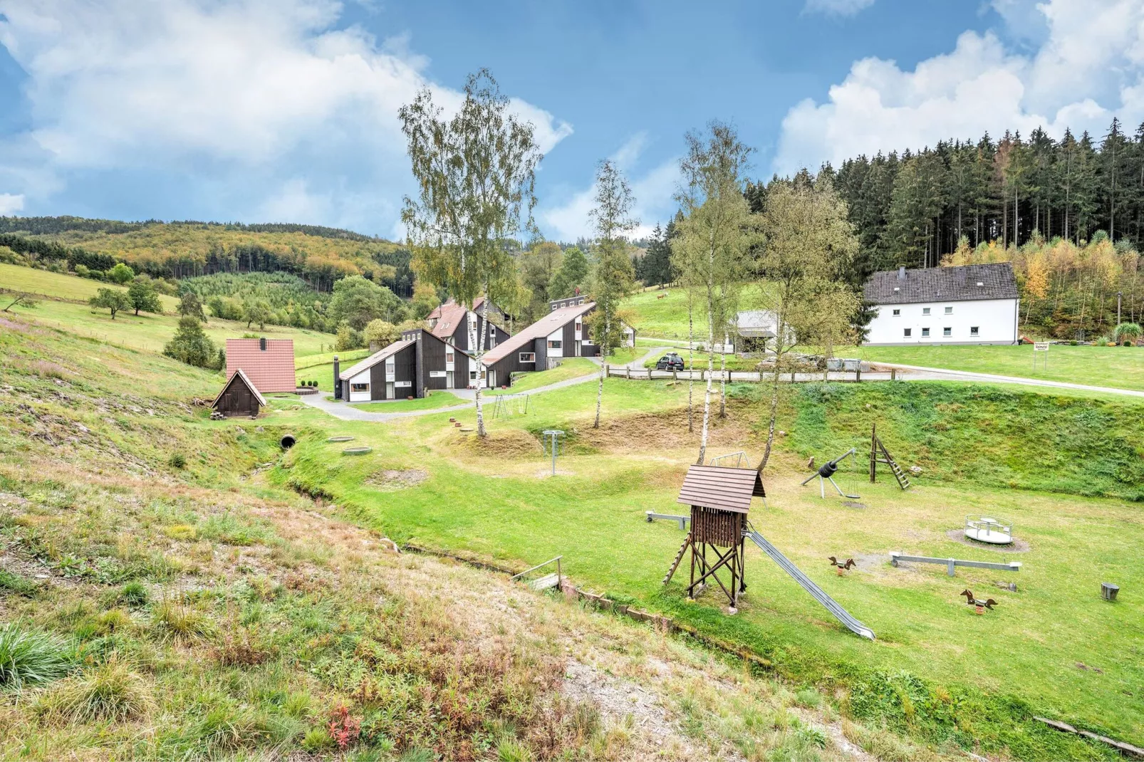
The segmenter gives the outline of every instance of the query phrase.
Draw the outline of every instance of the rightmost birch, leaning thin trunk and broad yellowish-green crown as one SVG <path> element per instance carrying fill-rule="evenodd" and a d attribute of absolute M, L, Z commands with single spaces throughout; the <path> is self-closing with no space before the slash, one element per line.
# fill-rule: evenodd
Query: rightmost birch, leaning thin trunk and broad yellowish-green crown
<path fill-rule="evenodd" d="M 760 294 L 772 313 L 776 335 L 770 423 L 760 473 L 774 444 L 779 378 L 792 367 L 791 351 L 816 340 L 844 341 L 861 303 L 841 277 L 858 252 L 858 238 L 829 177 L 771 183 L 761 216 L 766 243 L 757 262 L 764 280 Z"/>

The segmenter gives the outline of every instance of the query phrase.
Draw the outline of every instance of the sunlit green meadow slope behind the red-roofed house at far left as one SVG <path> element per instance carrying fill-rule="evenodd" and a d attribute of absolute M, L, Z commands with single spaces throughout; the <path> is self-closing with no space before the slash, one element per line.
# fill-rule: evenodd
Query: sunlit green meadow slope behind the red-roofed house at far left
<path fill-rule="evenodd" d="M 14 285 L 9 286 L 9 283 Z M 164 344 L 175 335 L 178 324 L 178 317 L 174 313 L 176 300 L 169 296 L 161 297 L 164 309 L 169 310 L 164 315 L 142 312 L 136 317 L 130 312 L 119 312 L 112 320 L 108 310 L 93 310 L 86 301 L 87 295 L 94 294 L 96 288 L 108 287 L 106 284 L 9 264 L 0 264 L 0 284 L 6 289 L 29 291 L 51 297 L 34 308 L 13 308 L 15 313 L 120 347 L 160 352 Z M 227 339 L 238 339 L 248 333 L 270 339 L 293 339 L 295 357 L 328 351 L 334 341 L 333 335 L 318 331 L 272 325 L 268 325 L 265 331 L 259 331 L 256 325 L 247 328 L 245 323 L 215 318 L 205 324 L 204 330 L 219 346 L 223 346 Z"/>

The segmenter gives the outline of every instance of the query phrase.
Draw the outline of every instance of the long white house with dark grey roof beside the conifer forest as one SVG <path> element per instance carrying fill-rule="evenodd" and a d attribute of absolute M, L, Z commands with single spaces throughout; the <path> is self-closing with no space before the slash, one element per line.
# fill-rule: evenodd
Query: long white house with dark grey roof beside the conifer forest
<path fill-rule="evenodd" d="M 1014 344 L 1020 299 L 1009 262 L 875 272 L 867 344 Z"/>

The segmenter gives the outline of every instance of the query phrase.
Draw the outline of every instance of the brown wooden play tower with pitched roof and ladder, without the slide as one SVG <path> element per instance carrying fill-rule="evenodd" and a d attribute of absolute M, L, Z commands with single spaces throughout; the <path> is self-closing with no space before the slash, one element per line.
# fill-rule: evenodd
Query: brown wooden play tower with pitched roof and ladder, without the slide
<path fill-rule="evenodd" d="M 676 502 L 691 506 L 691 532 L 675 555 L 664 584 L 667 585 L 675 574 L 690 548 L 688 597 L 693 598 L 705 587 L 718 585 L 731 608 L 737 608 L 739 594 L 747 589 L 744 581 L 744 530 L 754 495 L 765 498 L 766 493 L 758 471 L 753 468 L 689 468 Z"/>

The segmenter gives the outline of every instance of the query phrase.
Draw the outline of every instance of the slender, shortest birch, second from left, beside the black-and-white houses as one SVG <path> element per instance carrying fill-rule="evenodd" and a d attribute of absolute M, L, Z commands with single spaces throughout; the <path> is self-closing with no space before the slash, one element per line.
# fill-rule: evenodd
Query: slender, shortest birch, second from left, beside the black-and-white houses
<path fill-rule="evenodd" d="M 605 159 L 596 170 L 596 206 L 591 222 L 596 233 L 596 262 L 593 265 L 590 295 L 596 302 L 591 316 L 593 341 L 599 346 L 599 386 L 596 388 L 596 422 L 604 400 L 604 376 L 607 358 L 620 344 L 623 326 L 620 322 L 620 301 L 631 291 L 635 270 L 628 256 L 627 233 L 639 224 L 630 217 L 635 199 L 623 174 Z"/>

